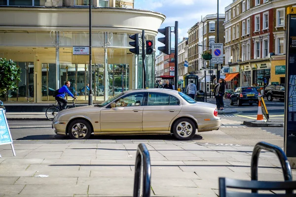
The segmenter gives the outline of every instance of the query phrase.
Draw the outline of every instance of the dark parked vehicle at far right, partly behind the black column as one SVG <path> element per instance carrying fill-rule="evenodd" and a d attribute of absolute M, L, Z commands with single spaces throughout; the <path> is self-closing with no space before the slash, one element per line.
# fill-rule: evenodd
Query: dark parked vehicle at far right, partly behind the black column
<path fill-rule="evenodd" d="M 268 101 L 272 101 L 273 99 L 280 99 L 281 101 L 284 101 L 285 84 L 268 85 L 264 90 L 264 98 L 267 98 Z"/>

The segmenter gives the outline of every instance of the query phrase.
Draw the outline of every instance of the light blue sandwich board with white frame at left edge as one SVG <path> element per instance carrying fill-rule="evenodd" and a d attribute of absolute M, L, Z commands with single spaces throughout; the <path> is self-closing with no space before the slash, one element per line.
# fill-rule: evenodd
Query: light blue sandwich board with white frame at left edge
<path fill-rule="evenodd" d="M 15 156 L 15 151 L 12 144 L 12 137 L 6 120 L 6 116 L 3 109 L 0 108 L 0 145 L 2 144 L 10 144 L 13 156 Z"/>

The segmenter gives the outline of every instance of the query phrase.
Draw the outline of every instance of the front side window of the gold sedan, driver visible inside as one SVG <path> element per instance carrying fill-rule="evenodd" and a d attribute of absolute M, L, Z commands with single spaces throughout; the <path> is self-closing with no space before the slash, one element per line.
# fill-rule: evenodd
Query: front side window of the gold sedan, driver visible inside
<path fill-rule="evenodd" d="M 144 105 L 144 93 L 129 94 L 115 100 L 116 107 L 131 107 Z"/>

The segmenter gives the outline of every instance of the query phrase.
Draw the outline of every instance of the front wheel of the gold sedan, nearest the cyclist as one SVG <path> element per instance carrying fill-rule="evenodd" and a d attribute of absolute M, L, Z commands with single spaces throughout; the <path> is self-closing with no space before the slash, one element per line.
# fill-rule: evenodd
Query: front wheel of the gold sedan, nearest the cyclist
<path fill-rule="evenodd" d="M 91 134 L 91 127 L 85 120 L 74 120 L 69 125 L 68 133 L 71 139 L 88 139 Z"/>

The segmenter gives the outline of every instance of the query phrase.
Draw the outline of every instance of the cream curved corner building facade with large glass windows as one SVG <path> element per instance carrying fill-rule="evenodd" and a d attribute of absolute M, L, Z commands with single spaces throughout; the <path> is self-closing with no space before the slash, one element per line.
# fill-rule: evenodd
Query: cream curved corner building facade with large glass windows
<path fill-rule="evenodd" d="M 0 57 L 13 60 L 22 69 L 19 89 L 8 91 L 1 100 L 52 102 L 53 91 L 69 80 L 70 91 L 86 102 L 90 78 L 88 6 L 81 0 L 44 1 L 50 7 L 35 6 L 35 1 L 32 6 L 12 6 L 8 0 L 0 6 Z M 133 41 L 129 35 L 145 30 L 146 38 L 155 41 L 165 19 L 152 11 L 112 7 L 112 0 L 104 0 L 109 7 L 100 7 L 100 3 L 93 0 L 98 6 L 92 8 L 91 20 L 94 102 L 123 90 L 143 88 L 142 55 L 129 51 Z M 154 53 L 145 60 L 147 87 L 153 87 Z"/>

